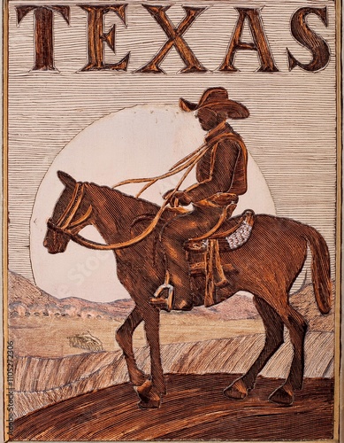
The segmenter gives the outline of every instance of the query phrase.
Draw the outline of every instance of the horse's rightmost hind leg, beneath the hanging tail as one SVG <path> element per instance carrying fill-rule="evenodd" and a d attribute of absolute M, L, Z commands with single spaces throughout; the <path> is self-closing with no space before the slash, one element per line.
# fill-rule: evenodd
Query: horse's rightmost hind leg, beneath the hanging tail
<path fill-rule="evenodd" d="M 294 391 L 302 389 L 304 338 L 306 336 L 308 325 L 302 315 L 289 305 L 280 309 L 280 315 L 283 323 L 286 324 L 289 330 L 290 341 L 292 342 L 294 349 L 294 356 L 285 384 L 272 392 L 269 400 L 274 403 L 291 405 L 294 400 Z"/>

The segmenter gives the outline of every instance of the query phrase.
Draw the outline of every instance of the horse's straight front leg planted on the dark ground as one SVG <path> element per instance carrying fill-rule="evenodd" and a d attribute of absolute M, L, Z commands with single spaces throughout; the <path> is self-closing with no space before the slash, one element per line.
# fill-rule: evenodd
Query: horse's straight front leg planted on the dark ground
<path fill-rule="evenodd" d="M 160 354 L 160 312 L 156 307 L 148 304 L 141 307 L 141 315 L 144 320 L 144 329 L 149 344 L 151 378 L 136 389 L 141 400 L 139 407 L 144 409 L 160 408 L 162 395 L 166 393 Z"/>

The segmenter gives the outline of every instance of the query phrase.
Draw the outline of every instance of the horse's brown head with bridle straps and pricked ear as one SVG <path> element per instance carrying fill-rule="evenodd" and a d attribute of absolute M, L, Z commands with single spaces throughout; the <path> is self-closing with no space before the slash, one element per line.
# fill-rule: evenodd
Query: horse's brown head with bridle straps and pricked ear
<path fill-rule="evenodd" d="M 76 182 L 65 172 L 58 171 L 57 175 L 65 184 L 65 190 L 47 223 L 43 245 L 49 253 L 64 253 L 71 237 L 90 224 L 92 213 L 88 198 L 85 198 L 86 183 Z"/>

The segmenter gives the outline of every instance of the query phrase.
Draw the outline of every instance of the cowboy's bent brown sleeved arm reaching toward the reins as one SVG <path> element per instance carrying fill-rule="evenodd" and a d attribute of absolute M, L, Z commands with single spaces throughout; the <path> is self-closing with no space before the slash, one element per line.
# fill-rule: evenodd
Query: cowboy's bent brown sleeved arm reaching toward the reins
<path fill-rule="evenodd" d="M 227 192 L 233 182 L 233 173 L 239 155 L 240 144 L 233 139 L 225 138 L 214 147 L 210 175 L 200 183 L 195 183 L 185 190 L 187 198 L 193 202 L 210 198 L 217 192 Z"/>

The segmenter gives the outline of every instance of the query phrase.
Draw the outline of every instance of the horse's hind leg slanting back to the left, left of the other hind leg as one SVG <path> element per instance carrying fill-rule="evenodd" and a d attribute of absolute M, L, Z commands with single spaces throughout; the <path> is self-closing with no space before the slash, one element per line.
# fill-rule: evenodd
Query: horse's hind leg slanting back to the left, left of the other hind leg
<path fill-rule="evenodd" d="M 283 323 L 276 311 L 264 300 L 254 298 L 256 309 L 262 317 L 265 328 L 265 343 L 256 361 L 248 369 L 248 372 L 235 380 L 224 391 L 226 397 L 231 399 L 244 399 L 248 391 L 253 389 L 258 373 L 283 343 Z"/>

